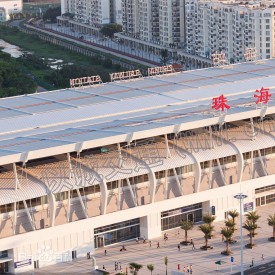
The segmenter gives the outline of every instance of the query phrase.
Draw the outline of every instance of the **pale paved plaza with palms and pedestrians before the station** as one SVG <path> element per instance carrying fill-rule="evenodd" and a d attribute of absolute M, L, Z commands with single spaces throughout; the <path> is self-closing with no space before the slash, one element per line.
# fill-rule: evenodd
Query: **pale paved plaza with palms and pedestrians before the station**
<path fill-rule="evenodd" d="M 275 260 L 275 242 L 269 242 L 268 237 L 272 236 L 272 227 L 267 225 L 267 217 L 270 214 L 275 213 L 275 203 L 268 206 L 262 206 L 257 209 L 257 212 L 261 215 L 258 222 L 260 229 L 257 230 L 258 234 L 254 238 L 256 246 L 253 249 L 247 249 L 244 247 L 244 268 L 250 269 L 250 265 L 254 263 L 254 267 L 274 261 Z M 193 266 L 193 274 L 235 274 L 240 271 L 240 242 L 239 242 L 239 229 L 235 232 L 236 244 L 231 246 L 234 254 L 234 263 L 231 263 L 230 256 L 221 255 L 221 251 L 224 250 L 225 244 L 222 242 L 220 235 L 220 228 L 224 225 L 223 222 L 216 222 L 214 237 L 209 240 L 209 244 L 213 246 L 212 250 L 202 251 L 200 246 L 204 244 L 204 238 L 201 231 L 194 227 L 192 231 L 189 231 L 189 239 L 193 239 L 195 248 L 192 250 L 192 246 L 181 246 L 178 251 L 177 245 L 184 238 L 184 231 L 182 229 L 174 229 L 166 231 L 168 234 L 168 241 L 164 241 L 163 237 L 151 240 L 152 246 L 149 243 L 143 244 L 142 241 L 137 244 L 135 240 L 125 242 L 125 248 L 127 251 L 120 252 L 121 245 L 113 245 L 106 248 L 107 255 L 105 256 L 105 248 L 96 250 L 94 255 L 97 261 L 98 267 L 101 269 L 103 265 L 110 274 L 116 274 L 120 272 L 120 265 L 123 272 L 125 272 L 127 264 L 130 262 L 136 262 L 143 265 L 139 274 L 149 275 L 151 274 L 147 269 L 148 264 L 154 265 L 153 274 L 164 275 L 165 264 L 164 257 L 168 257 L 168 274 L 172 274 L 172 271 L 177 271 L 178 264 L 180 264 L 181 271 L 184 266 Z M 237 224 L 239 228 L 239 223 Z M 179 235 L 178 235 L 179 231 Z M 243 229 L 244 245 L 249 242 L 247 231 Z M 157 243 L 160 243 L 160 248 L 157 248 Z M 223 265 L 215 265 L 215 262 L 222 260 L 225 263 Z M 115 262 L 119 262 L 119 271 L 115 272 Z M 274 267 L 275 268 L 275 267 Z M 91 269 L 91 260 L 86 258 L 80 258 L 73 262 L 62 263 L 47 268 L 41 268 L 35 270 L 35 272 L 29 274 L 88 274 Z M 257 274 L 252 272 L 253 274 Z M 246 274 L 252 274 L 246 273 Z M 128 269 L 128 274 L 129 269 Z M 183 273 L 182 273 L 183 274 Z M 261 273 L 262 274 L 262 273 Z"/>

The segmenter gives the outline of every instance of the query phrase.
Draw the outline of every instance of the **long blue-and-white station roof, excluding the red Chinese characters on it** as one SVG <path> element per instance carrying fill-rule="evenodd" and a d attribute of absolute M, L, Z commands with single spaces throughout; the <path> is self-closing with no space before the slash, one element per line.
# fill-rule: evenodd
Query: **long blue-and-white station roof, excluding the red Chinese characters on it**
<path fill-rule="evenodd" d="M 0 99 L 0 165 L 275 111 L 275 59 Z M 254 93 L 270 88 L 267 109 Z M 211 108 L 221 94 L 231 108 Z"/>

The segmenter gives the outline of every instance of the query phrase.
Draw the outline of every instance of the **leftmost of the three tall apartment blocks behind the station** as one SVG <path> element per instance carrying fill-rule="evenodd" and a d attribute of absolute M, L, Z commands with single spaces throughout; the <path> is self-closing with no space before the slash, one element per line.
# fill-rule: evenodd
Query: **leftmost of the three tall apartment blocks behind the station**
<path fill-rule="evenodd" d="M 61 0 L 63 13 L 74 14 L 77 23 L 91 26 L 122 23 L 121 0 Z"/>

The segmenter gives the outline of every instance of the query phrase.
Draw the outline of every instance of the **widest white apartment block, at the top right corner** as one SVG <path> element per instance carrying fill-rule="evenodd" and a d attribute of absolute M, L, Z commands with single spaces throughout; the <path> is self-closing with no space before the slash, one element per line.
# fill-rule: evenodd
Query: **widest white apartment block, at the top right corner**
<path fill-rule="evenodd" d="M 186 1 L 186 45 L 191 54 L 209 57 L 224 51 L 234 62 L 246 48 L 263 59 L 274 57 L 274 1 Z"/>

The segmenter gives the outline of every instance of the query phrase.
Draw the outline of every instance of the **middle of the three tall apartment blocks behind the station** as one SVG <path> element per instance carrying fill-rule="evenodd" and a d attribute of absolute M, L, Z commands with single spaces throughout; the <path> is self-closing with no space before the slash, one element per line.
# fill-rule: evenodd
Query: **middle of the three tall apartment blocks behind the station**
<path fill-rule="evenodd" d="M 184 0 L 122 0 L 123 32 L 168 47 L 184 43 Z"/>

